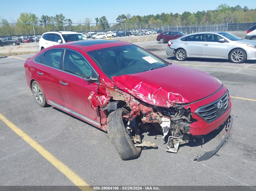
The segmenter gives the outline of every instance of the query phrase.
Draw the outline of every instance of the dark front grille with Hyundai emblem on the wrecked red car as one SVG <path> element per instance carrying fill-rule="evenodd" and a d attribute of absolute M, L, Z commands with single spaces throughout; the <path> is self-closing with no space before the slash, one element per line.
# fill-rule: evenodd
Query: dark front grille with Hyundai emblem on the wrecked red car
<path fill-rule="evenodd" d="M 223 103 L 223 105 L 222 105 Z M 222 106 L 221 106 L 222 105 Z M 220 107 L 220 108 L 218 108 Z M 229 93 L 228 91 L 221 96 L 218 100 L 209 103 L 205 106 L 198 107 L 195 113 L 200 116 L 204 121 L 210 123 L 220 116 L 223 115 L 228 110 L 229 107 Z"/>

